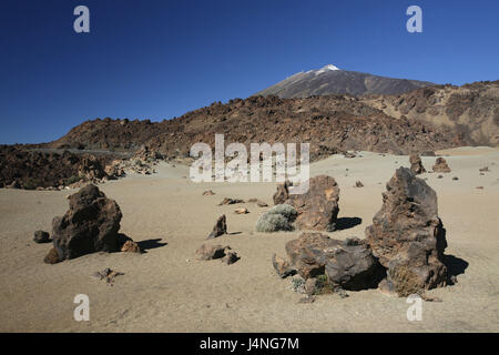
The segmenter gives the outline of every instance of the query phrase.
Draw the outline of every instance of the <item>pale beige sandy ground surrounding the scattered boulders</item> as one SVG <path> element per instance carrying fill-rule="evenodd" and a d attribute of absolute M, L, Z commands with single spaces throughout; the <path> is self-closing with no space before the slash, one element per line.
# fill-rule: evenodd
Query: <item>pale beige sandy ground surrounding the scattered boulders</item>
<path fill-rule="evenodd" d="M 123 212 L 121 232 L 142 242 L 146 253 L 99 253 L 55 265 L 43 263 L 50 244 L 32 241 L 35 230 L 68 209 L 75 191 L 0 190 L 1 332 L 498 332 L 499 331 L 499 149 L 461 148 L 445 154 L 451 173 L 425 173 L 439 199 L 448 248 L 459 273 L 454 286 L 430 291 L 441 303 L 424 303 L 422 321 L 409 322 L 405 298 L 376 290 L 348 298 L 320 295 L 299 304 L 272 267 L 273 253 L 299 232 L 264 234 L 255 223 L 268 207 L 217 206 L 223 197 L 257 197 L 272 204 L 276 183 L 203 183 L 183 176 L 187 166 L 163 164 L 157 174 L 100 185 Z M 435 158 L 422 158 L 430 170 Z M 339 217 L 361 219 L 328 233 L 364 237 L 381 206 L 386 182 L 408 156 L 363 152 L 335 155 L 312 165 L 312 174 L 334 176 L 340 187 Z M 489 166 L 490 172 L 479 174 Z M 458 181 L 452 181 L 458 176 Z M 364 187 L 354 187 L 360 180 Z M 476 189 L 483 186 L 483 190 Z M 202 196 L 211 189 L 216 195 Z M 233 265 L 195 260 L 216 217 L 227 216 L 230 235 L 210 241 L 230 245 Z M 348 220 L 350 219 L 350 220 Z M 90 277 L 104 267 L 123 272 L 114 286 Z M 75 322 L 73 298 L 90 297 L 90 322 Z"/>

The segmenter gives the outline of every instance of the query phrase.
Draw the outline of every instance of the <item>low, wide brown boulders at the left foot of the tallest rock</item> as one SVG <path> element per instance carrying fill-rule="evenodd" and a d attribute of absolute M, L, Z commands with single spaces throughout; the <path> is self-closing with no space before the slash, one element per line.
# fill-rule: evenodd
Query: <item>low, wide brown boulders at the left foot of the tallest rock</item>
<path fill-rule="evenodd" d="M 336 288 L 376 287 L 384 273 L 370 247 L 358 239 L 338 241 L 320 233 L 303 233 L 286 243 L 286 253 L 303 278 L 326 274 Z"/>

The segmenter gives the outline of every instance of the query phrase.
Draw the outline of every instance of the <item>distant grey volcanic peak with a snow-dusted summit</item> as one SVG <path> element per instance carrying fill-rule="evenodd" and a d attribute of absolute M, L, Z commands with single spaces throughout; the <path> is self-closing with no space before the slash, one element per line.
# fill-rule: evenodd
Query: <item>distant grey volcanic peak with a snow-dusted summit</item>
<path fill-rule="evenodd" d="M 418 88 L 432 85 L 430 82 L 393 79 L 355 71 L 338 70 L 326 65 L 289 77 L 256 95 L 279 98 L 308 98 L 328 94 L 400 94 Z"/>

